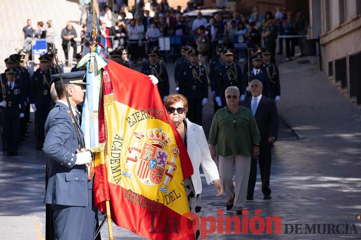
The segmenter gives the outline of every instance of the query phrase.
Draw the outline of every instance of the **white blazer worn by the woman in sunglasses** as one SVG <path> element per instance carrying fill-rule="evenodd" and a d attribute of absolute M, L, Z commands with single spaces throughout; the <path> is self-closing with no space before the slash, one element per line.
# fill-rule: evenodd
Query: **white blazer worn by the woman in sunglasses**
<path fill-rule="evenodd" d="M 192 182 L 196 190 L 196 194 L 202 192 L 201 176 L 199 166 L 205 175 L 207 184 L 213 184 L 214 180 L 219 180 L 219 173 L 216 163 L 210 156 L 208 142 L 205 138 L 203 128 L 195 123 L 187 121 L 187 151 L 193 166 Z"/>

